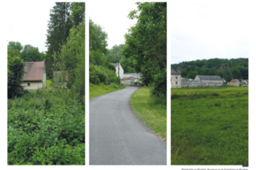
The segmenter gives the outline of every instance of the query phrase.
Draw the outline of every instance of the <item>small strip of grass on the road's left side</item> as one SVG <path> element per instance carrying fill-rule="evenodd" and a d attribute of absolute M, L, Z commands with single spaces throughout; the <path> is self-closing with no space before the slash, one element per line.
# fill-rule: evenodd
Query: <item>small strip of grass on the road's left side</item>
<path fill-rule="evenodd" d="M 110 93 L 119 89 L 124 89 L 125 86 L 121 86 L 115 83 L 110 83 L 109 85 L 104 85 L 104 84 L 100 84 L 100 85 L 96 85 L 96 84 L 92 84 L 90 83 L 90 99 L 93 97 L 99 97 L 100 95 L 104 95 L 106 93 Z"/>

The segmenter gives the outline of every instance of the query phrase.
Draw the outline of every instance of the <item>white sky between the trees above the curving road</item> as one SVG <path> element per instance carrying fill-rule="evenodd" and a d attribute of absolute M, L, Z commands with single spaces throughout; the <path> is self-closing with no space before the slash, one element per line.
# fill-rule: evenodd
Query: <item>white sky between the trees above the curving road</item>
<path fill-rule="evenodd" d="M 124 43 L 124 35 L 128 28 L 134 26 L 137 19 L 128 19 L 128 14 L 137 10 L 137 5 L 132 1 L 90 1 L 88 2 L 89 18 L 100 25 L 108 34 L 108 49 L 114 45 Z"/>

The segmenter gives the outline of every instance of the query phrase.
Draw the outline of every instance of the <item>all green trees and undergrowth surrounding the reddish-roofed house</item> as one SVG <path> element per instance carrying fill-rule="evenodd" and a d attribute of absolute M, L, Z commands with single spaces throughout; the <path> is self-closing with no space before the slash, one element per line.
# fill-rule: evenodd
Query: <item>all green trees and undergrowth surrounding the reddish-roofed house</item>
<path fill-rule="evenodd" d="M 84 10 L 84 3 L 53 6 L 46 53 L 8 44 L 8 165 L 84 165 Z M 23 89 L 24 62 L 44 59 L 47 79 L 68 71 L 67 89 L 64 73 L 54 89 Z"/>

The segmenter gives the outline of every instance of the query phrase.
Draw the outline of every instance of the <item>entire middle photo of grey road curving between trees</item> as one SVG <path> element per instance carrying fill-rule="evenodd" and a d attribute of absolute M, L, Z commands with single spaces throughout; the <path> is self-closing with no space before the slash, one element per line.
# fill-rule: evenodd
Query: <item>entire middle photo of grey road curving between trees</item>
<path fill-rule="evenodd" d="M 166 165 L 166 3 L 88 11 L 90 165 Z"/>

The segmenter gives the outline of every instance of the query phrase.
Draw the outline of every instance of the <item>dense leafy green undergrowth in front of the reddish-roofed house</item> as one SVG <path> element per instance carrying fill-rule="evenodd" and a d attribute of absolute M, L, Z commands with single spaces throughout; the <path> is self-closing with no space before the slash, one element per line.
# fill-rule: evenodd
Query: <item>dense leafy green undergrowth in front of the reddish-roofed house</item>
<path fill-rule="evenodd" d="M 8 99 L 8 165 L 84 165 L 84 104 L 70 90 Z"/>

